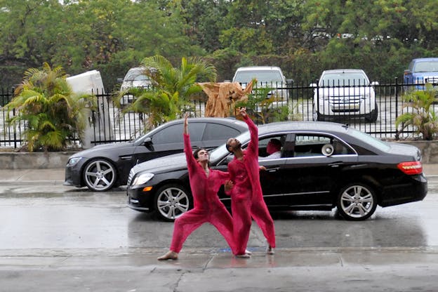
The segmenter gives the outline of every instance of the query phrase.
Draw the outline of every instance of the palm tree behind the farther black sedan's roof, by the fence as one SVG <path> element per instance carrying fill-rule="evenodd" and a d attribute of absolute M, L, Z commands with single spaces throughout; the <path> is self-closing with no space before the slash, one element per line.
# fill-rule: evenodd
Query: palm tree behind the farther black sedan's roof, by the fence
<path fill-rule="evenodd" d="M 199 58 L 182 58 L 180 67 L 173 67 L 171 62 L 161 55 L 144 58 L 141 62 L 145 74 L 152 81 L 151 88 L 131 88 L 128 93 L 135 96 L 135 101 L 124 112 L 147 114 L 146 128 L 154 128 L 166 121 L 180 116 L 180 112 L 191 107 L 190 98 L 202 91 L 199 81 L 214 82 L 217 74 L 213 65 Z M 117 96 L 116 104 L 127 92 Z"/>

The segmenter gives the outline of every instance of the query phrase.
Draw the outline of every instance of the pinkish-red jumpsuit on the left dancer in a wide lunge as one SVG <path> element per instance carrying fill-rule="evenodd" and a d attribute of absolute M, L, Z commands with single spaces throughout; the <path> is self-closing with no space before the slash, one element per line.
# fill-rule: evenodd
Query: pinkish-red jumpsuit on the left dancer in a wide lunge
<path fill-rule="evenodd" d="M 218 197 L 218 190 L 221 185 L 229 180 L 229 175 L 223 171 L 210 169 L 210 174 L 207 177 L 204 169 L 192 154 L 189 135 L 183 135 L 194 208 L 175 220 L 171 251 L 179 253 L 183 248 L 185 239 L 199 226 L 208 222 L 225 237 L 234 253 L 232 218 Z"/>

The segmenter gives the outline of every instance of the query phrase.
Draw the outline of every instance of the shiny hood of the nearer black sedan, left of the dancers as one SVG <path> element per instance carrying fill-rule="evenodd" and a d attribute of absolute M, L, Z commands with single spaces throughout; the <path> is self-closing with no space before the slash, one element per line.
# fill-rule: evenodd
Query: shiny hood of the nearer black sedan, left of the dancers
<path fill-rule="evenodd" d="M 187 168 L 185 154 L 173 154 L 165 157 L 151 159 L 141 164 L 137 164 L 131 168 L 131 174 L 135 175 L 139 172 L 161 173 L 168 171 L 176 171 Z"/>

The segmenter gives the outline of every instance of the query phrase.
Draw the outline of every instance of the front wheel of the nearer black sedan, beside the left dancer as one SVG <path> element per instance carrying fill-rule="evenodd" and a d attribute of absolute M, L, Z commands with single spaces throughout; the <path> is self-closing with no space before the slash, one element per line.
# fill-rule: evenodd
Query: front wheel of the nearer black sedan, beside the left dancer
<path fill-rule="evenodd" d="M 192 208 L 192 195 L 177 184 L 164 185 L 155 194 L 155 213 L 164 221 L 173 221 Z"/>

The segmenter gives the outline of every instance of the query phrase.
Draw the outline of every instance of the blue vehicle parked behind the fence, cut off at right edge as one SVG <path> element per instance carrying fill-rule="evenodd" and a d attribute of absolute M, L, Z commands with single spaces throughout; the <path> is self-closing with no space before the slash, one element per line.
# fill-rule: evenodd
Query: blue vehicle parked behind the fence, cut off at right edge
<path fill-rule="evenodd" d="M 404 70 L 404 84 L 415 85 L 416 89 L 424 89 L 425 84 L 438 86 L 438 58 L 417 58 Z"/>

